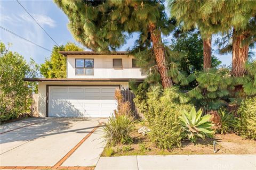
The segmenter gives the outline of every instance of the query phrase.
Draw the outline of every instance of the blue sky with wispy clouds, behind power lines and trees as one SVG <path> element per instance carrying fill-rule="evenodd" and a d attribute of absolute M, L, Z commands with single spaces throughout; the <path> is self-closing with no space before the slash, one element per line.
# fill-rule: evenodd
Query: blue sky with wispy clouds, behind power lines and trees
<path fill-rule="evenodd" d="M 20 1 L 20 3 L 59 45 L 64 45 L 67 42 L 76 43 L 67 28 L 67 16 L 52 1 Z M 0 11 L 0 25 L 2 27 L 44 48 L 51 50 L 55 45 L 17 1 L 0 1 Z M 3 43 L 12 43 L 10 50 L 18 52 L 27 61 L 31 57 L 37 63 L 41 64 L 44 62 L 45 57 L 51 55 L 51 52 L 30 44 L 3 29 L 0 29 L 0 37 Z M 136 37 L 134 36 L 134 38 Z M 134 39 L 128 40 L 127 44 L 120 50 L 126 50 L 133 45 L 133 42 Z M 213 49 L 216 48 L 213 47 Z M 222 61 L 222 64 L 231 64 L 231 54 L 225 56 L 220 56 L 215 52 L 213 54 Z"/>

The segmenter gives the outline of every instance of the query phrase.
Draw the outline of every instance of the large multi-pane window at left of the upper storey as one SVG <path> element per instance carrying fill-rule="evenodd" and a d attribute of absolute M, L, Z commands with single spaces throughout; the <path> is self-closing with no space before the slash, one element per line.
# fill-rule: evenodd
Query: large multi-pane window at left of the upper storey
<path fill-rule="evenodd" d="M 93 59 L 76 59 L 76 75 L 93 75 Z"/>

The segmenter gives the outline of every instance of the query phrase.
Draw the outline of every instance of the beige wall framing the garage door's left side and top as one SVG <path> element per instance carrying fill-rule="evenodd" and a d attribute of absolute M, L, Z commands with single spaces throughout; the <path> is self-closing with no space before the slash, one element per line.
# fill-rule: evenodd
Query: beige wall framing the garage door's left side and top
<path fill-rule="evenodd" d="M 38 83 L 38 116 L 46 116 L 46 85 L 86 85 L 86 86 L 106 86 L 106 85 L 119 85 L 121 89 L 128 89 L 129 82 L 39 82 Z"/>

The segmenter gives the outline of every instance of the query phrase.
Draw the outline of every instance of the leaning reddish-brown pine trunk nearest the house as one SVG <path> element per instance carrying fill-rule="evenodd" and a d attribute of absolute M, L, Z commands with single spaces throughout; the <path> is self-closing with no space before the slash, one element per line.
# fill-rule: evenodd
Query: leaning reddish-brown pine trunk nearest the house
<path fill-rule="evenodd" d="M 161 33 L 157 32 L 154 24 L 149 25 L 150 38 L 153 43 L 153 50 L 157 63 L 157 71 L 161 76 L 163 88 L 171 87 L 172 80 L 167 74 L 167 67 L 165 62 L 164 46 L 161 39 Z"/>

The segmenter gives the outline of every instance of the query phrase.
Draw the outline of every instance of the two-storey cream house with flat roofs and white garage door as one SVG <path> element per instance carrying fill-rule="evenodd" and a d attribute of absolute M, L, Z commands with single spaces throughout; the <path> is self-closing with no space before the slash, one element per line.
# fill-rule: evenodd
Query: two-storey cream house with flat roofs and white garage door
<path fill-rule="evenodd" d="M 65 79 L 38 81 L 39 117 L 108 117 L 116 109 L 115 90 L 147 77 L 127 52 L 59 52 L 67 58 Z"/>

